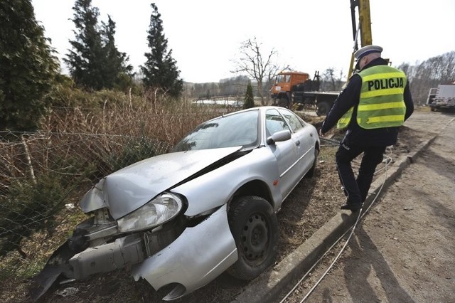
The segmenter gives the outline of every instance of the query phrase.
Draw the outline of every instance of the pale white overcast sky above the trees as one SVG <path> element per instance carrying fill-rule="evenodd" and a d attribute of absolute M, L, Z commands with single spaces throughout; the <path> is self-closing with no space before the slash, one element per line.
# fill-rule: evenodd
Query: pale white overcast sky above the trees
<path fill-rule="evenodd" d="M 92 0 L 100 20 L 116 23 L 119 51 L 135 70 L 149 52 L 152 1 Z M 32 0 L 37 21 L 64 58 L 74 38 L 74 0 Z M 336 68 L 348 72 L 353 34 L 349 0 L 156 0 L 168 50 L 187 82 L 218 82 L 236 74 L 242 41 L 257 38 L 262 53 L 313 75 Z M 455 50 L 455 0 L 370 0 L 373 44 L 392 65 L 415 64 Z M 62 63 L 64 71 L 65 66 Z"/>

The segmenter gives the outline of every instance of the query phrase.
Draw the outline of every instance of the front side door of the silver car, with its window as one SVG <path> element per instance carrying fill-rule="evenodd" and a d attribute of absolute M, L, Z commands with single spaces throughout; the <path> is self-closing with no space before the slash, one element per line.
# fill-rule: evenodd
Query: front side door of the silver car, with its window
<path fill-rule="evenodd" d="M 282 117 L 276 109 L 267 110 L 265 127 L 267 137 L 271 136 L 275 132 L 283 130 L 291 132 L 289 124 L 287 124 L 284 117 Z M 299 179 L 299 176 L 301 175 L 301 169 L 298 166 L 298 146 L 295 139 L 289 139 L 270 145 L 270 149 L 277 159 L 279 170 L 279 188 L 282 193 L 282 197 L 286 198 L 292 188 L 294 188 L 296 180 Z"/>

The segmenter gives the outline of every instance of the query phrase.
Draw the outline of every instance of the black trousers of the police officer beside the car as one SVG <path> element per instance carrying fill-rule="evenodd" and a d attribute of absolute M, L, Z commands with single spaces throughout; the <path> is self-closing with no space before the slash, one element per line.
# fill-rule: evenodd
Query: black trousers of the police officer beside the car
<path fill-rule="evenodd" d="M 370 147 L 361 145 L 350 145 L 342 142 L 336 152 L 336 166 L 341 185 L 348 197 L 347 203 L 363 203 L 368 196 L 373 175 L 386 147 Z M 357 179 L 350 162 L 363 153 Z"/>

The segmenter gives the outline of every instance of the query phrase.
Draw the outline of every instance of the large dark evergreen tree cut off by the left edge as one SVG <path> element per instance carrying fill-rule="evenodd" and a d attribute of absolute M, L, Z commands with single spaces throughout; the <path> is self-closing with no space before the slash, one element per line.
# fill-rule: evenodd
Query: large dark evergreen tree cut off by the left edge
<path fill-rule="evenodd" d="M 30 0 L 0 1 L 0 129 L 31 131 L 60 65 Z"/>

